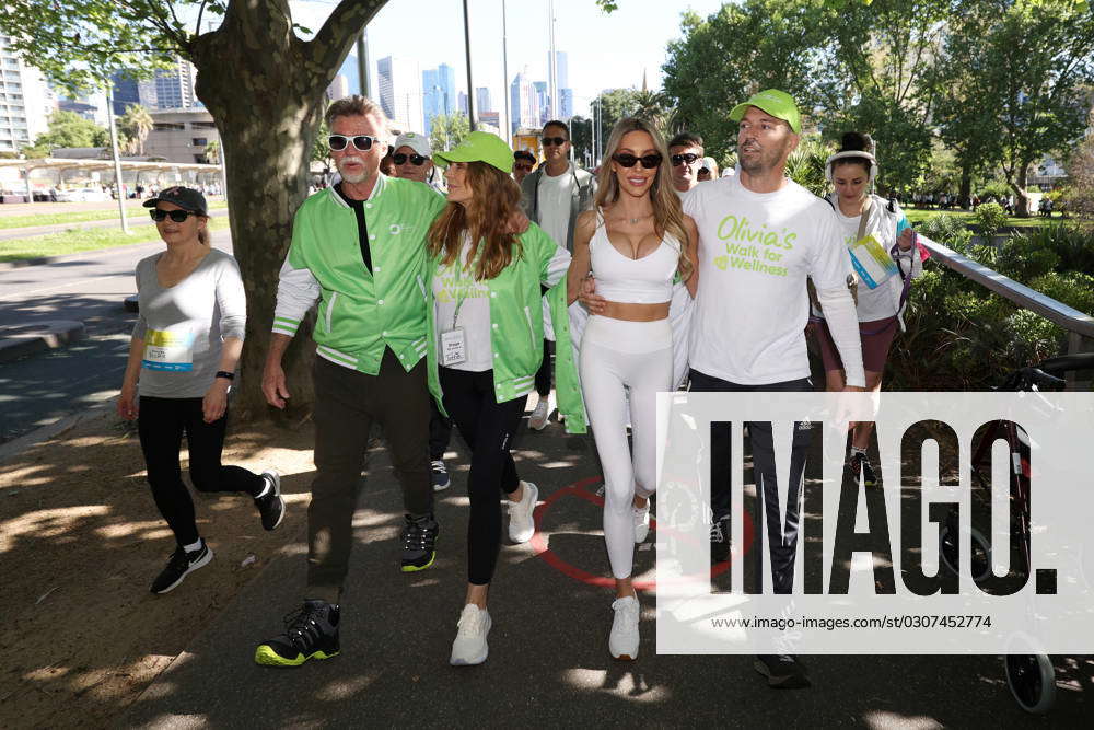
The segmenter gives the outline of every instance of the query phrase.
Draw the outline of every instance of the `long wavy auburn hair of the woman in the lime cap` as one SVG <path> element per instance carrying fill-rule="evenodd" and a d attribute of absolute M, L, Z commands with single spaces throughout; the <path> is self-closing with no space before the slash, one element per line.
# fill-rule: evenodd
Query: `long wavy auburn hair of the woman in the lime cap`
<path fill-rule="evenodd" d="M 521 188 L 493 165 L 485 162 L 465 164 L 465 181 L 472 188 L 475 205 L 469 213 L 457 202 L 446 205 L 429 227 L 427 239 L 430 255 L 443 255 L 441 264 L 452 266 L 459 258 L 466 232 L 472 240 L 469 260 L 478 259 L 475 278 L 482 281 L 494 278 L 513 262 L 514 248 L 516 256 L 523 253 L 511 231 L 513 215 L 521 209 Z"/>

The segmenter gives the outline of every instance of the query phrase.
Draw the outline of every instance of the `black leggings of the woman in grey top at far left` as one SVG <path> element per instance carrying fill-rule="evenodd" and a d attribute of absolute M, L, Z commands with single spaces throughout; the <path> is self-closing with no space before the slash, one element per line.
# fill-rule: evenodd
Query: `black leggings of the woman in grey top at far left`
<path fill-rule="evenodd" d="M 178 450 L 183 433 L 190 453 L 190 482 L 198 491 L 245 491 L 252 497 L 266 488 L 266 479 L 242 466 L 224 466 L 228 414 L 211 424 L 201 415 L 201 398 L 155 398 L 142 395 L 137 431 L 148 466 L 148 483 L 160 514 L 167 521 L 175 541 L 189 545 L 198 540 L 194 500 L 183 484 Z"/>

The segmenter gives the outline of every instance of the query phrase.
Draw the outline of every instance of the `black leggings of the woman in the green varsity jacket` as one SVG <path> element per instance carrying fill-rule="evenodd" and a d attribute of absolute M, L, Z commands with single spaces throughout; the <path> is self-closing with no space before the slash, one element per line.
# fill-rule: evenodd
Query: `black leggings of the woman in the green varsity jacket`
<path fill-rule="evenodd" d="M 499 490 L 516 491 L 521 482 L 509 449 L 524 415 L 525 397 L 497 403 L 493 371 L 466 372 L 440 368 L 444 408 L 472 452 L 467 494 L 472 500 L 467 528 L 467 581 L 486 586 L 493 577 L 501 543 Z"/>

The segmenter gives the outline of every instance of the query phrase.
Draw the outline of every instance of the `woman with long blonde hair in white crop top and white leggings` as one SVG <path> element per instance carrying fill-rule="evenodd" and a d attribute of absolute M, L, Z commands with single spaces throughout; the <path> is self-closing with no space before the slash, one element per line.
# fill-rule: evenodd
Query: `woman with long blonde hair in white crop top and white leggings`
<path fill-rule="evenodd" d="M 604 541 L 616 582 L 608 650 L 637 659 L 640 610 L 631 571 L 656 488 L 656 394 L 673 387 L 668 305 L 677 276 L 695 296 L 699 236 L 673 190 L 665 142 L 649 123 L 621 119 L 607 159 L 594 209 L 578 217 L 567 285 L 572 303 L 591 271 L 607 300 L 585 324 L 578 367 L 604 468 Z"/>

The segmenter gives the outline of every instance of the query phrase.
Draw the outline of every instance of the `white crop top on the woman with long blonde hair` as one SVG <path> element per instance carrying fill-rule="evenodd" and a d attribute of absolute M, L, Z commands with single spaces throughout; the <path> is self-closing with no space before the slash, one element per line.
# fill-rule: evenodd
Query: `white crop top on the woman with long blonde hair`
<path fill-rule="evenodd" d="M 608 241 L 603 222 L 589 241 L 589 260 L 596 278 L 596 293 L 609 302 L 660 304 L 672 301 L 679 250 L 665 235 L 661 245 L 641 258 L 630 258 Z"/>

